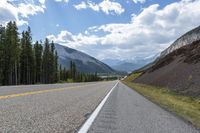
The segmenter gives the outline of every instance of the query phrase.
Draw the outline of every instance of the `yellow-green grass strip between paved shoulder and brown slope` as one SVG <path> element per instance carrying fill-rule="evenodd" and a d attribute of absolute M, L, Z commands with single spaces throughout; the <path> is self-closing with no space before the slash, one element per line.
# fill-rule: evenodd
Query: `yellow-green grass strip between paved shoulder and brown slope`
<path fill-rule="evenodd" d="M 131 78 L 134 79 L 137 75 L 132 74 Z M 130 82 L 131 78 L 129 76 L 123 82 L 152 102 L 174 112 L 200 129 L 200 98 L 178 95 L 167 88 L 133 83 Z"/>

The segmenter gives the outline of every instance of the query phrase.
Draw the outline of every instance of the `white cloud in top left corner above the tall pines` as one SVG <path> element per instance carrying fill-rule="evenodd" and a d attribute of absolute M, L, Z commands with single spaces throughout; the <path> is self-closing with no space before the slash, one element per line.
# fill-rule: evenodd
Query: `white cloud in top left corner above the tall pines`
<path fill-rule="evenodd" d="M 0 24 L 5 24 L 10 20 L 16 21 L 17 25 L 28 24 L 27 18 L 30 15 L 44 13 L 45 0 L 40 0 L 39 5 L 34 3 L 19 2 L 14 4 L 8 0 L 0 1 Z"/>

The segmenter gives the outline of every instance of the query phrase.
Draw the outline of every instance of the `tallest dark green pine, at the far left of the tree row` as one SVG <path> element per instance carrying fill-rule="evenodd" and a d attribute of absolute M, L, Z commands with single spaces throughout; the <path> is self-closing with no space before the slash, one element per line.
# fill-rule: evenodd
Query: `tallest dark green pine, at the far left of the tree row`
<path fill-rule="evenodd" d="M 19 38 L 15 22 L 9 22 L 1 28 L 1 71 L 2 84 L 18 84 Z"/>

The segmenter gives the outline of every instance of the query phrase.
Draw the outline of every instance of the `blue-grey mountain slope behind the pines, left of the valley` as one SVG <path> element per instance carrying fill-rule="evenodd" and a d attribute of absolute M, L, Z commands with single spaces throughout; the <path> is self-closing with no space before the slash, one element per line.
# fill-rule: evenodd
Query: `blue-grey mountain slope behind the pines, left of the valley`
<path fill-rule="evenodd" d="M 105 63 L 91 57 L 78 50 L 55 44 L 56 51 L 59 57 L 59 63 L 69 69 L 70 61 L 76 63 L 77 70 L 85 73 L 116 73 L 111 67 Z"/>

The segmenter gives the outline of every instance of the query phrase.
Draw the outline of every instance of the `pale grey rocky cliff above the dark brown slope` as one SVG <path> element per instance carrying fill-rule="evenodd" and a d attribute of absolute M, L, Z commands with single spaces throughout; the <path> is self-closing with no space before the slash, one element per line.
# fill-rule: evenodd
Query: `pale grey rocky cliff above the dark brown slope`
<path fill-rule="evenodd" d="M 167 49 L 161 52 L 160 57 L 162 58 L 167 54 L 173 52 L 174 50 L 182 46 L 191 44 L 192 42 L 197 40 L 200 40 L 200 26 L 178 38 L 171 46 L 169 46 Z"/>

